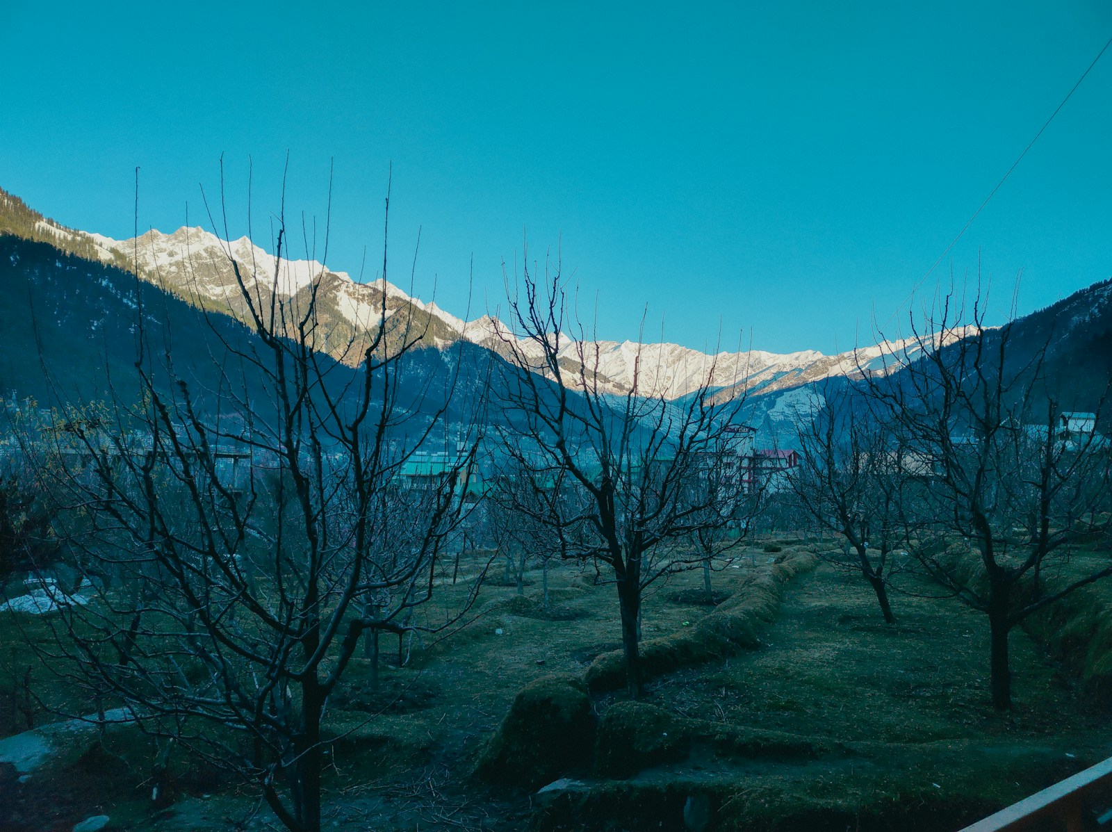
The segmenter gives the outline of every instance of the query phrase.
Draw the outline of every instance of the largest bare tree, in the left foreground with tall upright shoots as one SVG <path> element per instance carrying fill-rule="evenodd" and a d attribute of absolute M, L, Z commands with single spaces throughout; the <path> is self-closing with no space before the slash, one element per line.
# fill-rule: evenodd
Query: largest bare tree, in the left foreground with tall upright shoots
<path fill-rule="evenodd" d="M 444 630 L 474 600 L 477 583 L 454 611 L 421 613 L 466 512 L 477 423 L 419 486 L 407 466 L 449 403 L 453 403 L 463 347 L 426 348 L 411 319 L 387 315 L 385 291 L 349 344 L 358 369 L 325 354 L 322 276 L 279 291 L 276 221 L 269 293 L 226 249 L 250 335 L 210 318 L 215 389 L 190 382 L 173 334 L 140 308 L 140 400 L 43 439 L 68 507 L 60 532 L 88 523 L 67 537 L 71 562 L 106 582 L 88 603 L 63 603 L 51 666 L 254 783 L 287 829 L 317 832 L 327 703 L 360 637 Z M 381 268 L 385 285 L 385 244 Z"/>

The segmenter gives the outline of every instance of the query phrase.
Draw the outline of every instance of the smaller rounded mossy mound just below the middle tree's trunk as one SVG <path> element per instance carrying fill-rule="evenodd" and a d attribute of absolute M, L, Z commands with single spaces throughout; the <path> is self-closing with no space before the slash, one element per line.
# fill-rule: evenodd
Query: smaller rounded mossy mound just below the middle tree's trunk
<path fill-rule="evenodd" d="M 692 734 L 682 716 L 645 702 L 615 703 L 598 725 L 595 770 L 605 777 L 627 777 L 642 769 L 682 760 Z"/>

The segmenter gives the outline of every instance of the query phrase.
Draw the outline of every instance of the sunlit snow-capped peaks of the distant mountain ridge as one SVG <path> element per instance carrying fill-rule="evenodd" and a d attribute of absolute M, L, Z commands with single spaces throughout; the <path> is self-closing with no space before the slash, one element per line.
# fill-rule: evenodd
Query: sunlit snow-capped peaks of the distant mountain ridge
<path fill-rule="evenodd" d="M 515 337 L 512 327 L 485 314 L 465 320 L 435 301 L 425 303 L 381 278 L 358 283 L 346 271 L 329 269 L 315 259 L 277 258 L 247 237 L 224 240 L 202 228 L 179 228 L 172 234 L 147 231 L 136 239 L 113 240 L 88 235 L 106 259 L 137 259 L 141 276 L 187 297 L 200 296 L 227 305 L 236 314 L 240 290 L 229 265 L 235 260 L 249 290 L 274 293 L 291 298 L 314 284 L 327 283 L 325 295 L 331 298 L 336 319 L 356 330 L 373 330 L 383 316 L 400 308 L 424 313 L 435 321 L 433 343 L 445 346 L 464 339 L 505 357 L 516 353 L 526 364 L 542 358 L 540 346 Z M 318 295 L 321 294 L 318 289 Z M 385 294 L 385 298 L 384 298 Z M 321 307 L 324 308 L 324 306 Z M 241 310 L 240 310 L 241 311 Z M 914 351 L 911 340 L 883 343 L 826 356 L 814 349 L 788 354 L 759 349 L 704 353 L 678 344 L 639 344 L 624 340 L 576 340 L 560 333 L 559 357 L 572 366 L 585 366 L 603 389 L 641 395 L 663 395 L 675 399 L 701 389 L 722 390 L 722 395 L 742 392 L 774 392 L 830 376 L 855 375 L 863 369 L 891 370 L 906 351 Z M 510 348 L 513 345 L 513 348 Z M 575 374 L 573 373 L 574 377 Z"/>

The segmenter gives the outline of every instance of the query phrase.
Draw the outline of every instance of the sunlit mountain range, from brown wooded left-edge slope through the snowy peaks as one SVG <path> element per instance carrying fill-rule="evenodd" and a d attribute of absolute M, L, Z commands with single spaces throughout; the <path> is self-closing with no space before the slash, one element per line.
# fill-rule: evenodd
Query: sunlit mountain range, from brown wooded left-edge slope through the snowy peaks
<path fill-rule="evenodd" d="M 508 343 L 516 341 L 527 358 L 536 351 L 533 345 L 517 340 L 509 326 L 489 316 L 465 321 L 385 280 L 359 283 L 312 259 L 290 259 L 285 252 L 279 258 L 247 237 L 222 240 L 202 228 L 183 227 L 172 234 L 150 230 L 135 239 L 115 240 L 64 228 L 0 191 L 3 231 L 117 266 L 195 306 L 245 323 L 250 323 L 250 306 L 268 310 L 277 298 L 297 310 L 315 291 L 318 347 L 348 366 L 358 366 L 363 360 L 368 339 L 384 320 L 390 321 L 396 333 L 419 337 L 430 346 L 465 340 L 507 356 Z M 237 268 L 242 287 L 236 278 Z M 245 290 L 252 300 L 250 305 Z M 573 369 L 586 364 L 607 393 L 628 393 L 636 383 L 642 395 L 677 399 L 707 382 L 717 395 L 736 397 L 770 395 L 832 376 L 852 377 L 864 365 L 874 372 L 881 369 L 877 359 L 882 355 L 898 356 L 904 346 L 874 345 L 835 356 L 816 350 L 786 355 L 763 350 L 705 354 L 676 344 L 590 341 L 562 336 L 560 358 Z"/>

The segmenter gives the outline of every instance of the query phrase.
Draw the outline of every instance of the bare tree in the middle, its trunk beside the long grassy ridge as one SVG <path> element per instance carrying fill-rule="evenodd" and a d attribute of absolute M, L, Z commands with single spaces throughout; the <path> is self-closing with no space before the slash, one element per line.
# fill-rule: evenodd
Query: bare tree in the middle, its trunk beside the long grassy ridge
<path fill-rule="evenodd" d="M 499 335 L 510 363 L 530 372 L 506 372 L 498 380 L 495 397 L 512 425 L 503 448 L 532 473 L 530 482 L 546 484 L 533 518 L 552 531 L 562 552 L 595 561 L 614 581 L 626 686 L 636 697 L 645 588 L 702 565 L 703 553 L 678 545 L 698 528 L 736 524 L 744 482 L 713 472 L 729 453 L 728 428 L 742 400 L 712 396 L 712 366 L 696 390 L 671 402 L 665 389 L 643 380 L 649 368 L 641 356 L 631 388 L 608 392 L 599 347 L 564 335 L 576 321 L 558 265 L 543 281 L 526 266 L 520 290 L 509 293 L 512 330 Z"/>

